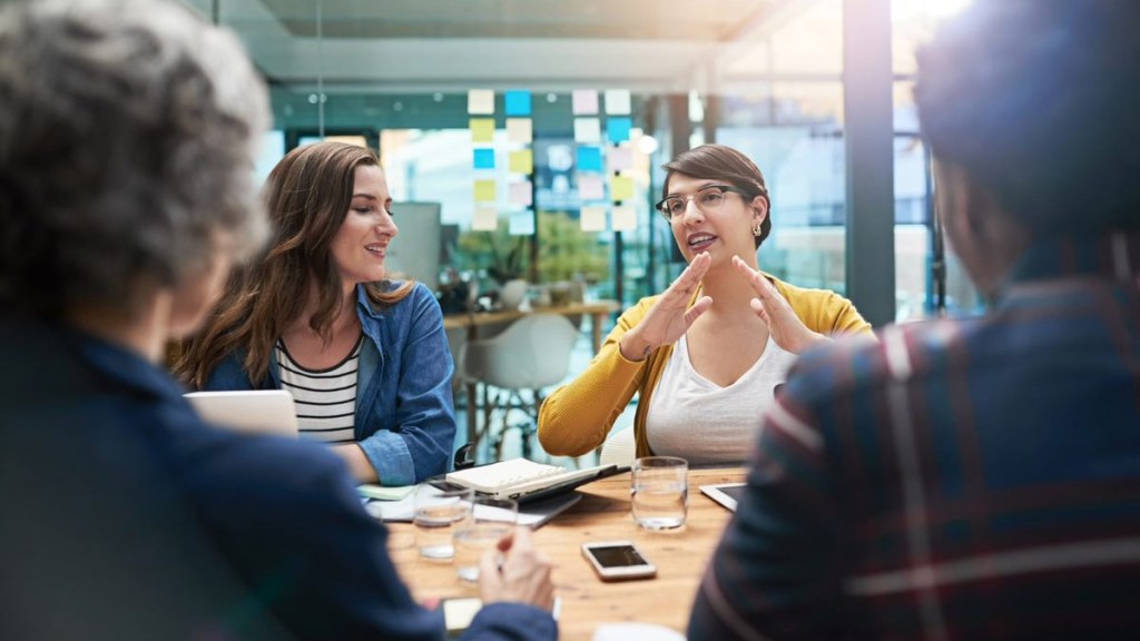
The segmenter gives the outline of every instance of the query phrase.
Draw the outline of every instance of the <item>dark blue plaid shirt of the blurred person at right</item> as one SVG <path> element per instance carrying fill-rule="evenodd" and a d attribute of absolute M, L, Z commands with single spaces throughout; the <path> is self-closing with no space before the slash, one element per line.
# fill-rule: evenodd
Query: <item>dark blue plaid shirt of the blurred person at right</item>
<path fill-rule="evenodd" d="M 690 639 L 1140 634 L 1140 234 L 880 339 L 793 368 Z"/>

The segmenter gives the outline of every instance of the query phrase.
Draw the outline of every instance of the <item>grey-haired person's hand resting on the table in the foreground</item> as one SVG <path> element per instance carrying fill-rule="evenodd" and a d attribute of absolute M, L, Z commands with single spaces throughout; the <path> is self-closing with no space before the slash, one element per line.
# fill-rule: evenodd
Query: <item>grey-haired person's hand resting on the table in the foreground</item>
<path fill-rule="evenodd" d="M 503 565 L 498 557 L 503 554 Z M 551 561 L 535 550 L 530 529 L 516 527 L 498 542 L 498 553 L 483 554 L 479 568 L 479 592 L 483 603 L 508 601 L 544 610 L 554 607 Z"/>

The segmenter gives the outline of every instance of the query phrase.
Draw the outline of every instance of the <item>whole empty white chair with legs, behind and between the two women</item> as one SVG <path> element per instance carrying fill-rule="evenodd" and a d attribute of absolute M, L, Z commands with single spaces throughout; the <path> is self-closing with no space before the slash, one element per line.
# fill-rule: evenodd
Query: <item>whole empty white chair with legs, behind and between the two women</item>
<path fill-rule="evenodd" d="M 500 334 L 469 341 L 461 350 L 459 375 L 482 384 L 483 424 L 474 443 L 492 438 L 495 459 L 502 459 L 506 431 L 521 431 L 522 455 L 531 455 L 531 440 L 537 431 L 538 407 L 543 388 L 565 379 L 570 354 L 578 340 L 578 330 L 557 314 L 530 314 L 515 320 Z M 529 390 L 530 399 L 523 395 Z M 492 431 L 494 414 L 502 413 L 500 429 Z M 511 424 L 512 409 L 522 409 L 527 419 Z"/>

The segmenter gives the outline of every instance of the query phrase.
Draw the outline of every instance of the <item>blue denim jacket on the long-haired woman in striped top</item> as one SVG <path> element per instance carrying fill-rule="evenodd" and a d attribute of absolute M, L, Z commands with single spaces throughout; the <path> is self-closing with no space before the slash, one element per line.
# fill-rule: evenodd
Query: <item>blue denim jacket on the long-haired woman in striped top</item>
<path fill-rule="evenodd" d="M 455 365 L 439 303 L 417 284 L 400 302 L 377 309 L 357 285 L 357 314 L 367 336 L 357 371 L 357 444 L 383 485 L 412 485 L 447 471 L 456 429 Z M 258 386 L 242 368 L 244 359 L 244 351 L 230 354 L 203 389 L 280 388 L 275 358 Z"/>

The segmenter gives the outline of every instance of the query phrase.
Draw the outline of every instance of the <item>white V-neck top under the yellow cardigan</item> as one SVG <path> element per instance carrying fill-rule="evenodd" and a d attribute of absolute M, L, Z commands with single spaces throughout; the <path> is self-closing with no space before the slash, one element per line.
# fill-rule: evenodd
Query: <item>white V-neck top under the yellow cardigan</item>
<path fill-rule="evenodd" d="M 681 456 L 690 465 L 741 463 L 756 440 L 760 416 L 775 388 L 788 378 L 796 355 L 768 338 L 756 363 L 728 387 L 693 368 L 681 336 L 650 399 L 645 429 L 654 454 Z"/>

